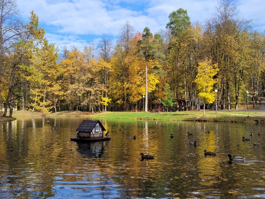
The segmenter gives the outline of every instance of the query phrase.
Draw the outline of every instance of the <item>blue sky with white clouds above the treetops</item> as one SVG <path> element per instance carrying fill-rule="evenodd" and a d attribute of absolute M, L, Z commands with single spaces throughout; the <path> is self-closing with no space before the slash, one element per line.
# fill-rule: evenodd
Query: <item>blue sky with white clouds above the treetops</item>
<path fill-rule="evenodd" d="M 165 29 L 171 12 L 187 10 L 191 23 L 204 23 L 215 13 L 219 0 L 17 0 L 24 23 L 30 11 L 39 17 L 46 38 L 61 51 L 66 45 L 83 50 L 104 36 L 115 44 L 120 29 L 130 22 L 137 31 Z M 265 31 L 265 0 L 234 0 L 241 19 L 252 20 L 255 30 Z"/>

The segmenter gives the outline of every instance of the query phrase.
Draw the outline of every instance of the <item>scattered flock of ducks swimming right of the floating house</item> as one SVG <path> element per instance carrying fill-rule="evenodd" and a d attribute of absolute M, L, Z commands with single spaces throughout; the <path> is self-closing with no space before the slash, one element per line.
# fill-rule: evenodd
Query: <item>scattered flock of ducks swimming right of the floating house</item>
<path fill-rule="evenodd" d="M 206 131 L 205 132 L 206 134 L 210 134 L 210 131 Z M 189 133 L 187 132 L 187 136 L 192 136 L 193 134 L 192 133 Z M 261 134 L 258 133 L 258 136 L 260 136 Z M 253 136 L 252 132 L 249 133 L 249 136 Z M 131 137 L 132 138 L 132 137 Z M 134 136 L 134 139 L 136 137 Z M 174 136 L 172 134 L 170 134 L 170 138 L 174 138 Z M 250 138 L 245 138 L 244 136 L 242 137 L 242 141 L 250 141 Z M 194 145 L 196 146 L 196 141 L 194 142 L 188 142 L 188 144 L 191 144 L 191 145 Z M 256 145 L 260 145 L 260 142 L 254 142 L 253 144 L 254 146 Z M 140 153 L 141 157 L 142 157 L 142 160 L 144 159 L 154 159 L 154 156 L 153 155 L 150 155 L 150 154 L 144 154 L 144 153 Z M 205 156 L 216 156 L 216 152 L 213 152 L 213 151 L 207 151 L 206 149 L 204 150 L 204 155 Z M 244 161 L 245 157 L 242 157 L 242 156 L 235 156 L 233 157 L 231 154 L 228 154 L 228 158 L 229 158 L 229 162 L 231 161 Z"/>

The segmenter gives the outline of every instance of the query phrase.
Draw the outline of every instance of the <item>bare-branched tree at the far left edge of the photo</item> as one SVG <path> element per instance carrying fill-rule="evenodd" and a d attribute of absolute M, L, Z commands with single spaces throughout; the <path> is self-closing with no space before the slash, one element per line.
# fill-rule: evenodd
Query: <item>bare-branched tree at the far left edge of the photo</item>
<path fill-rule="evenodd" d="M 21 54 L 17 52 L 16 45 L 21 39 L 22 27 L 15 0 L 1 0 L 0 11 L 0 104 L 4 101 L 3 116 L 6 116 L 9 105 L 14 103 L 19 83 Z M 9 115 L 12 116 L 13 109 L 10 108 Z"/>

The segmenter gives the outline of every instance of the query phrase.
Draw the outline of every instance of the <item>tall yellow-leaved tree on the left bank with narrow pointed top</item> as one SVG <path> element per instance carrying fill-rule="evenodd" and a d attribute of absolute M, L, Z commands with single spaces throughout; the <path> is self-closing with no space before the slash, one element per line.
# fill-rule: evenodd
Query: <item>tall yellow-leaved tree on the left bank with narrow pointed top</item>
<path fill-rule="evenodd" d="M 30 62 L 24 64 L 23 69 L 31 85 L 32 111 L 36 109 L 47 114 L 52 109 L 52 103 L 53 106 L 56 103 L 56 97 L 50 96 L 60 89 L 55 82 L 59 76 L 56 64 L 58 49 L 44 37 L 45 30 L 38 27 L 39 20 L 33 11 L 29 19 L 30 22 L 23 26 L 28 39 L 21 42 L 20 48 L 26 49 L 25 56 Z"/>

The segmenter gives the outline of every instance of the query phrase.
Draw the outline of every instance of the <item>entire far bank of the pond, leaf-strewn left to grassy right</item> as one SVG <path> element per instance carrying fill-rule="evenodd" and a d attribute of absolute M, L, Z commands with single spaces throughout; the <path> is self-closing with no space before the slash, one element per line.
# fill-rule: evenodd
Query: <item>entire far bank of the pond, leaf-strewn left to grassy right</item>
<path fill-rule="evenodd" d="M 10 121 L 16 117 L 23 116 L 53 116 L 53 117 L 86 117 L 86 118 L 114 118 L 114 119 L 142 119 L 142 120 L 160 120 L 160 121 L 220 121 L 220 122 L 247 122 L 247 123 L 265 123 L 265 113 L 255 113 L 246 111 L 184 111 L 184 112 L 103 112 L 90 113 L 80 111 L 57 112 L 49 115 L 41 113 L 31 113 L 28 111 L 16 111 L 13 117 L 0 117 L 0 121 Z"/>

